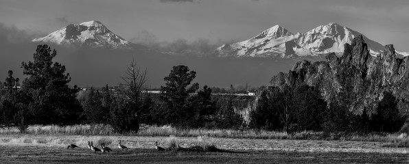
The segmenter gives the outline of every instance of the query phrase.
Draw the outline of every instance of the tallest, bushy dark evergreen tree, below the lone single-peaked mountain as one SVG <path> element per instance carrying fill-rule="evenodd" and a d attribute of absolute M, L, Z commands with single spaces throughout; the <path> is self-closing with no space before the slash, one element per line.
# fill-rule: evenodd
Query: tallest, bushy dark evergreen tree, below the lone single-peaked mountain
<path fill-rule="evenodd" d="M 75 100 L 77 89 L 69 88 L 71 81 L 65 66 L 53 62 L 57 52 L 47 45 L 38 45 L 34 61 L 22 63 L 22 90 L 29 98 L 25 104 L 33 115 L 35 124 L 72 124 L 77 121 L 80 110 Z M 52 117 L 50 117 L 52 115 Z"/>

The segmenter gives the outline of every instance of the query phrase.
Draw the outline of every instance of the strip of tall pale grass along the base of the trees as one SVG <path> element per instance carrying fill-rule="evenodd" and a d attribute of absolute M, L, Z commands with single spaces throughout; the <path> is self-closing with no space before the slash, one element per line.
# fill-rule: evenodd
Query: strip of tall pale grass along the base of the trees
<path fill-rule="evenodd" d="M 0 134 L 20 133 L 16 127 L 0 128 Z M 110 125 L 106 124 L 78 124 L 71 126 L 58 125 L 32 125 L 25 131 L 32 135 L 131 135 L 131 136 L 174 136 L 174 137 L 226 137 L 244 139 L 325 139 L 325 140 L 348 140 L 348 141 L 380 141 L 398 143 L 409 139 L 406 133 L 394 134 L 369 134 L 348 135 L 343 137 L 323 137 L 321 132 L 302 131 L 288 134 L 281 131 L 264 131 L 255 129 L 180 129 L 172 126 L 146 126 L 141 125 L 138 133 L 119 134 Z"/>

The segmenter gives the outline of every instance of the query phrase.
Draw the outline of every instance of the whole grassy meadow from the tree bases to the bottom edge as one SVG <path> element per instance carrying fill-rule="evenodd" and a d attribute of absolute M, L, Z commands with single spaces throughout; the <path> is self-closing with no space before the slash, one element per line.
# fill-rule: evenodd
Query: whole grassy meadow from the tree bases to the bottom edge
<path fill-rule="evenodd" d="M 143 126 L 137 134 L 119 135 L 110 126 L 30 126 L 0 129 L 2 163 L 409 163 L 408 143 L 403 134 L 318 139 L 319 133 L 253 130 L 180 130 L 171 126 Z M 315 138 L 316 136 L 317 138 Z M 303 138 L 304 137 L 304 138 Z M 127 146 L 120 150 L 117 144 Z M 113 152 L 92 152 L 105 143 Z M 158 152 L 163 148 L 209 148 L 219 152 Z M 67 149 L 69 144 L 79 148 Z"/>

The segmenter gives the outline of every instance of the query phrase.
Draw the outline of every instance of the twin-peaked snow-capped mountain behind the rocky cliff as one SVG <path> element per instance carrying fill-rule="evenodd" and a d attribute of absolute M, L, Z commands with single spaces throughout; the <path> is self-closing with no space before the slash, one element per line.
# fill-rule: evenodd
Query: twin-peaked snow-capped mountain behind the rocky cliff
<path fill-rule="evenodd" d="M 223 44 L 215 50 L 219 57 L 283 57 L 296 58 L 318 56 L 327 53 L 344 52 L 344 44 L 349 43 L 355 36 L 362 35 L 348 27 L 336 23 L 320 25 L 307 33 L 290 33 L 287 29 L 275 25 L 258 36 L 236 42 Z M 363 36 L 363 35 L 362 35 Z M 366 44 L 372 55 L 378 55 L 384 50 L 384 46 L 366 38 Z M 400 55 L 409 55 L 399 52 Z"/>

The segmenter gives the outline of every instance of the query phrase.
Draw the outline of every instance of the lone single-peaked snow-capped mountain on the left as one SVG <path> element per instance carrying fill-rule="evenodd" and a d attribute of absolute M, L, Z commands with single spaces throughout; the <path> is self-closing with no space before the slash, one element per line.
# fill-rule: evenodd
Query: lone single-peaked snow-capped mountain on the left
<path fill-rule="evenodd" d="M 95 20 L 67 25 L 43 38 L 35 38 L 32 41 L 107 49 L 146 48 L 124 40 Z"/>

